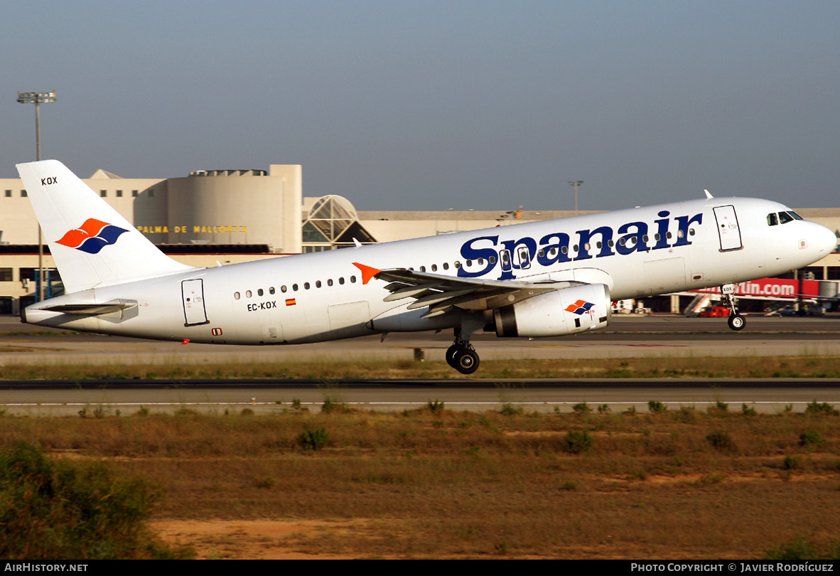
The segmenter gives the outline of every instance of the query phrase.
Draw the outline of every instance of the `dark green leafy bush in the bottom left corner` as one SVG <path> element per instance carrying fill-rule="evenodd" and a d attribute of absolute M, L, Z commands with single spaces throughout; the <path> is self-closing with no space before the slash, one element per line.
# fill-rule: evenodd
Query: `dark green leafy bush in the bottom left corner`
<path fill-rule="evenodd" d="M 159 490 L 141 478 L 118 478 L 99 462 L 53 462 L 17 443 L 0 455 L 0 557 L 190 558 L 146 528 L 158 499 Z"/>

